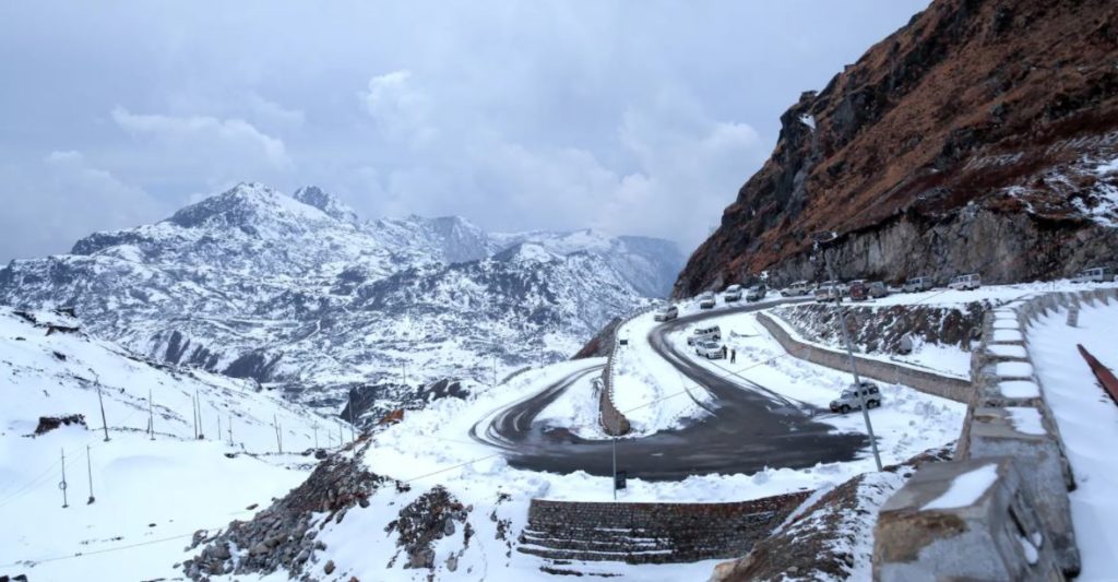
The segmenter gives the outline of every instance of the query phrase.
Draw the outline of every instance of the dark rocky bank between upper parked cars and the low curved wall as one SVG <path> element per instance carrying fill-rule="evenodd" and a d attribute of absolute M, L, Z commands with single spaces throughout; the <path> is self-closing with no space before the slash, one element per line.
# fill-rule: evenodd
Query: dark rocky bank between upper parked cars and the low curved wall
<path fill-rule="evenodd" d="M 851 341 L 869 354 L 901 353 L 901 341 L 906 336 L 918 343 L 969 350 L 970 342 L 982 331 L 983 314 L 989 308 L 988 302 L 972 302 L 959 307 L 844 306 Z M 833 305 L 786 305 L 777 307 L 775 313 L 808 341 L 841 345 L 839 314 Z"/>

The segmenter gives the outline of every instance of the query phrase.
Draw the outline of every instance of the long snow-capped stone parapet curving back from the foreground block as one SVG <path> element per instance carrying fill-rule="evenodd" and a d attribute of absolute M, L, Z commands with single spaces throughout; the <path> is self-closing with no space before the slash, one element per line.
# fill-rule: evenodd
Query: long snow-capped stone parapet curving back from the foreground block
<path fill-rule="evenodd" d="M 1118 289 L 1051 293 L 986 314 L 956 460 L 921 469 L 882 507 L 875 579 L 1051 580 L 1079 572 L 1068 498 L 1074 476 L 1033 370 L 1027 332 L 1050 313 L 1111 302 Z M 926 508 L 960 477 L 988 466 L 996 466 L 996 477 L 973 503 Z"/>

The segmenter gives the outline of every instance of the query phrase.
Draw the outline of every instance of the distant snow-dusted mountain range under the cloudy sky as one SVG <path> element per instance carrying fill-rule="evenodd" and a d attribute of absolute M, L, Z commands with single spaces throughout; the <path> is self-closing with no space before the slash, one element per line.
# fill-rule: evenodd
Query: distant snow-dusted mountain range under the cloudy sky
<path fill-rule="evenodd" d="M 362 222 L 319 188 L 288 197 L 246 183 L 155 225 L 91 235 L 70 255 L 12 261 L 0 304 L 73 306 L 138 353 L 338 407 L 340 388 L 401 401 L 407 387 L 491 383 L 567 357 L 662 296 L 682 261 L 671 242 L 595 231 Z"/>

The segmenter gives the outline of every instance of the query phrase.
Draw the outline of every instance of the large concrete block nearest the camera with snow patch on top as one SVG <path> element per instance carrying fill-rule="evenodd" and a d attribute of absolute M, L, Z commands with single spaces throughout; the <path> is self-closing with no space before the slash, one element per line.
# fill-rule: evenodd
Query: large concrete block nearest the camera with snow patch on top
<path fill-rule="evenodd" d="M 881 508 L 873 578 L 1061 580 L 1032 492 L 1007 458 L 920 468 Z"/>

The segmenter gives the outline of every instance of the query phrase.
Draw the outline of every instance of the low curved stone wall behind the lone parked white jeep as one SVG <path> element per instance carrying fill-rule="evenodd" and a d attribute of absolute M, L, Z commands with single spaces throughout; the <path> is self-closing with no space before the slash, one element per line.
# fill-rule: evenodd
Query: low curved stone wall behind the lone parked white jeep
<path fill-rule="evenodd" d="M 806 360 L 813 364 L 850 372 L 850 356 L 844 352 L 827 350 L 800 342 L 778 322 L 764 313 L 757 314 L 757 321 L 776 338 L 781 347 L 793 357 Z M 954 400 L 968 402 L 974 389 L 967 380 L 939 375 L 904 365 L 891 364 L 880 360 L 871 360 L 855 355 L 858 373 L 880 382 L 891 382 L 911 387 L 921 392 Z"/>

